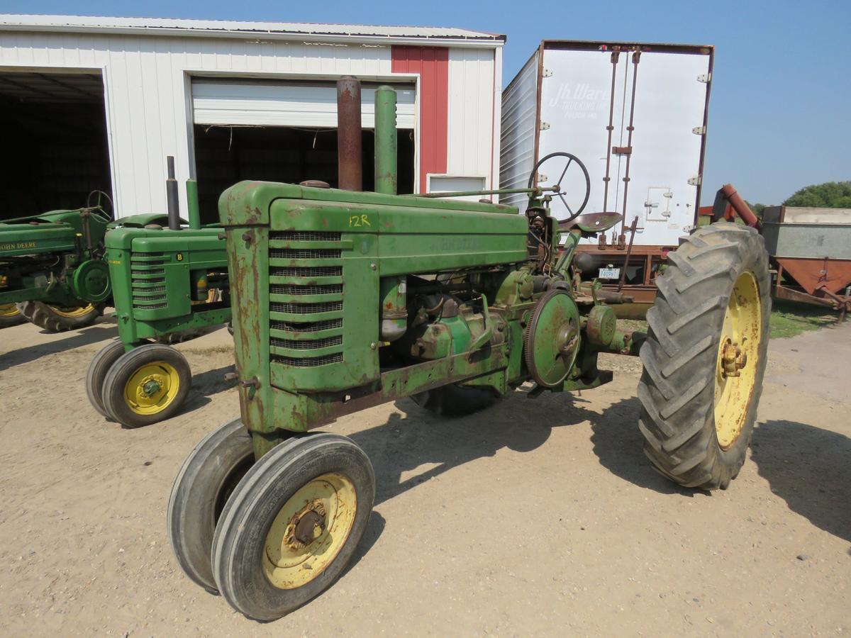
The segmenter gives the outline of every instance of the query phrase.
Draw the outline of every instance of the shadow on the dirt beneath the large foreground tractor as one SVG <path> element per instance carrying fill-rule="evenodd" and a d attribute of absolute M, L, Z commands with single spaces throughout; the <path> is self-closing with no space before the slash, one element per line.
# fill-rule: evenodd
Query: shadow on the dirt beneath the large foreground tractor
<path fill-rule="evenodd" d="M 554 428 L 586 420 L 591 422 L 594 452 L 615 475 L 660 493 L 702 493 L 677 487 L 650 467 L 635 422 L 637 399 L 626 399 L 598 414 L 577 405 L 582 401 L 577 396 L 541 396 L 533 403 L 525 394 L 517 390 L 482 412 L 457 418 L 436 416 L 403 399 L 396 402 L 400 413 L 392 413 L 386 423 L 352 433 L 351 439 L 374 459 L 375 504 L 455 467 L 494 456 L 503 447 L 530 452 L 542 446 Z M 431 467 L 405 477 L 424 465 Z"/>

